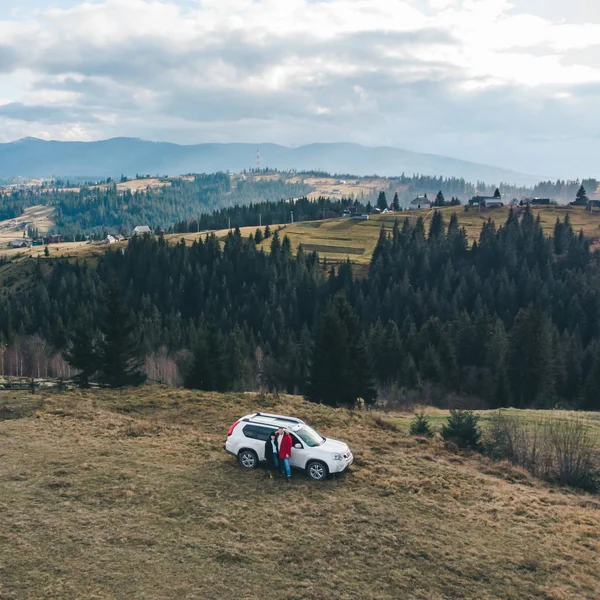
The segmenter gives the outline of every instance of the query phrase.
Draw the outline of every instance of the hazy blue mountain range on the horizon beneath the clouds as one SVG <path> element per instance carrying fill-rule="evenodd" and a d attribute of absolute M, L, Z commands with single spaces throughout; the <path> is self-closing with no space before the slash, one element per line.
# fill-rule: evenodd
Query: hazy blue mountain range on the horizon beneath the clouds
<path fill-rule="evenodd" d="M 467 181 L 531 185 L 539 178 L 455 158 L 359 144 L 310 144 L 288 148 L 277 144 L 197 144 L 182 146 L 135 138 L 99 142 L 56 142 L 24 138 L 0 144 L 0 178 L 106 177 L 239 172 L 260 164 L 280 170 L 321 170 L 358 176 L 443 175 Z"/>

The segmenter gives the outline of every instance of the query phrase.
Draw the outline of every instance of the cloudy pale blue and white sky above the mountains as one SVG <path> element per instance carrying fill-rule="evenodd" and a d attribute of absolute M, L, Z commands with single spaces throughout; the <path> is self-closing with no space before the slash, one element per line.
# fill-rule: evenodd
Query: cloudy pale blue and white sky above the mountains
<path fill-rule="evenodd" d="M 597 0 L 0 0 L 0 141 L 351 141 L 600 177 Z"/>

